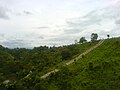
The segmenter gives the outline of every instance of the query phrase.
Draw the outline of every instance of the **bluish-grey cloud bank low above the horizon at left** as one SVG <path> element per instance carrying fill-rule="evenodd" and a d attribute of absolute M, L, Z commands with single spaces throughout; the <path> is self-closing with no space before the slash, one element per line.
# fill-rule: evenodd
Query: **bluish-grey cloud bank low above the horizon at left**
<path fill-rule="evenodd" d="M 34 46 L 42 45 L 44 35 L 37 33 L 29 34 L 0 34 L 0 44 L 8 48 L 33 48 Z"/>

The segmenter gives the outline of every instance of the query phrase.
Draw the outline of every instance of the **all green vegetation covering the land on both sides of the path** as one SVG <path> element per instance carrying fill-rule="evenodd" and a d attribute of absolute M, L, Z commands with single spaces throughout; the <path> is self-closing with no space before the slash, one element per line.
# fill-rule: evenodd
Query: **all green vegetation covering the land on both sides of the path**
<path fill-rule="evenodd" d="M 120 38 L 106 39 L 80 60 L 62 66 L 98 42 L 31 50 L 0 46 L 0 90 L 119 90 Z M 55 68 L 61 70 L 40 78 Z"/>

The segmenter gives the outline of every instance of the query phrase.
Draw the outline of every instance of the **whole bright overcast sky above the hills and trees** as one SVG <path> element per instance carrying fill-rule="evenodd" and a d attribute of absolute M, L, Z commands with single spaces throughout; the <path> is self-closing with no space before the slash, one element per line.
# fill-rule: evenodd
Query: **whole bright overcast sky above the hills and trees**
<path fill-rule="evenodd" d="M 120 36 L 119 0 L 0 0 L 0 45 L 60 46 Z"/>

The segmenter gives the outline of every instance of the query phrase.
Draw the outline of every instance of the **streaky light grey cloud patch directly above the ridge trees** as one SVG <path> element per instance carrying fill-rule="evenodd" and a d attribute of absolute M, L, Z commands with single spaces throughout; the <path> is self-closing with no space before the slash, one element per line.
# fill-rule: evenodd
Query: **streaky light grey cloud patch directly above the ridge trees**
<path fill-rule="evenodd" d="M 81 33 L 82 31 L 92 27 L 92 26 L 101 26 L 100 18 L 75 18 L 75 20 L 67 21 L 67 29 L 64 29 L 66 34 L 76 34 Z"/>

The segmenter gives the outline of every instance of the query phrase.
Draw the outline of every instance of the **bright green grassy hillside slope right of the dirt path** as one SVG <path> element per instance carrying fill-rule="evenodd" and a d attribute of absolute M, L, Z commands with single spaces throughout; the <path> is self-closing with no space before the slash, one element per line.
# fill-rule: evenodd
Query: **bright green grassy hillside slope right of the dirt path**
<path fill-rule="evenodd" d="M 107 39 L 82 59 L 35 86 L 47 90 L 119 90 L 120 38 Z"/>

